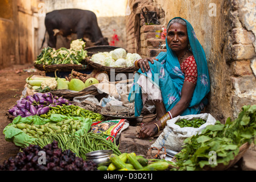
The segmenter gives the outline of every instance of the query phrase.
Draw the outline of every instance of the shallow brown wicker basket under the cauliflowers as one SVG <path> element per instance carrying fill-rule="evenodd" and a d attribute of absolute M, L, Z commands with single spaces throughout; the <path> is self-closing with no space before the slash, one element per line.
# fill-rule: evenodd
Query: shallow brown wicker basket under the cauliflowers
<path fill-rule="evenodd" d="M 36 69 L 39 69 L 40 71 L 46 71 L 46 72 L 55 72 L 56 69 L 60 72 L 69 72 L 75 70 L 75 71 L 83 71 L 87 68 L 86 63 L 88 63 L 89 57 L 84 60 L 83 64 L 52 64 L 52 65 L 44 65 L 44 64 L 35 64 L 34 67 Z"/>

